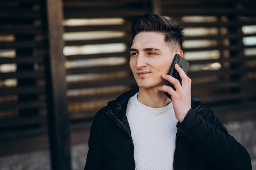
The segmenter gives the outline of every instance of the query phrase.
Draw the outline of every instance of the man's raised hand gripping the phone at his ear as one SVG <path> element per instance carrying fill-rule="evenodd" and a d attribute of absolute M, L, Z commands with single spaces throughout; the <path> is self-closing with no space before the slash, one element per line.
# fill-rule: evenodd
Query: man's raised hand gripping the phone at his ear
<path fill-rule="evenodd" d="M 175 64 L 174 67 L 182 78 L 182 85 L 176 78 L 170 75 L 162 75 L 162 78 L 174 85 L 176 91 L 166 85 L 159 87 L 159 90 L 171 95 L 175 116 L 179 122 L 182 122 L 189 109 L 191 109 L 191 79 L 178 64 Z"/>

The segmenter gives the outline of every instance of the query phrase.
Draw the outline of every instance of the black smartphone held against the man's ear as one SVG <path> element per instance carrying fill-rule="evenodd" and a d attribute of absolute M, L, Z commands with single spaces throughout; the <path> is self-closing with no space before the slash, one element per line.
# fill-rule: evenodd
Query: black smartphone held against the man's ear
<path fill-rule="evenodd" d="M 183 57 L 181 57 L 180 54 L 175 54 L 174 59 L 173 59 L 173 63 L 172 63 L 172 65 L 171 65 L 171 69 L 170 69 L 170 71 L 169 71 L 169 75 L 171 75 L 171 76 L 173 76 L 174 78 L 178 79 L 178 80 L 180 81 L 180 84 L 181 84 L 182 79 L 180 78 L 179 73 L 178 73 L 178 72 L 175 70 L 175 68 L 174 68 L 174 65 L 175 65 L 175 64 L 178 64 L 178 65 L 182 68 L 182 70 L 183 70 L 185 73 L 187 73 L 187 72 L 188 72 L 188 69 L 189 69 L 189 63 L 188 63 Z M 174 90 L 176 90 L 175 87 L 174 87 L 174 85 L 171 84 L 170 82 L 167 81 L 167 82 L 166 82 L 166 85 L 168 85 L 168 86 L 172 87 Z M 164 92 L 164 94 L 165 94 L 168 98 L 171 99 L 171 95 L 170 95 L 170 94 L 168 94 L 167 92 Z"/>

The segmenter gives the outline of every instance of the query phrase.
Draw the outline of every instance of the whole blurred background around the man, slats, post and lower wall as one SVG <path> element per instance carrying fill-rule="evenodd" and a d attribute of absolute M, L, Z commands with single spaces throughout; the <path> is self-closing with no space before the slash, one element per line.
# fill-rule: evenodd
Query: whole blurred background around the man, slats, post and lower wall
<path fill-rule="evenodd" d="M 185 27 L 192 94 L 256 170 L 255 0 L 1 0 L 1 170 L 83 169 L 94 114 L 137 88 L 130 22 L 146 12 Z"/>

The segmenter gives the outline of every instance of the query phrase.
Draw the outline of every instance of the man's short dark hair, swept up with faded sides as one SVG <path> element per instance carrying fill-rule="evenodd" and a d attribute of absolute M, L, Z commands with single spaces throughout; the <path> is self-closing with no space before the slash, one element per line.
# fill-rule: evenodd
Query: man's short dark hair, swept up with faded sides
<path fill-rule="evenodd" d="M 181 31 L 183 27 L 173 20 L 167 20 L 165 17 L 152 13 L 145 13 L 135 18 L 131 27 L 132 40 L 140 32 L 155 32 L 163 34 L 164 41 L 172 46 L 173 50 L 182 48 L 183 35 Z"/>

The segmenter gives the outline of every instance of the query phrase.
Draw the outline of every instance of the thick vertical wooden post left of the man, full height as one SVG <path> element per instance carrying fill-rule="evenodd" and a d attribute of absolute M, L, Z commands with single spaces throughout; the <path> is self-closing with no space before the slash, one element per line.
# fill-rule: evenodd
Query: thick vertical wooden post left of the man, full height
<path fill-rule="evenodd" d="M 50 83 L 48 98 L 48 131 L 52 170 L 71 170 L 70 131 L 67 111 L 66 70 L 63 55 L 62 0 L 46 0 Z M 48 76 L 49 77 L 49 76 Z M 48 94 L 49 95 L 49 94 Z"/>

